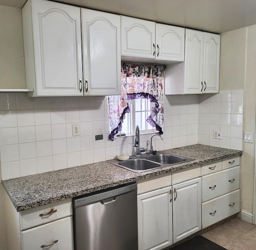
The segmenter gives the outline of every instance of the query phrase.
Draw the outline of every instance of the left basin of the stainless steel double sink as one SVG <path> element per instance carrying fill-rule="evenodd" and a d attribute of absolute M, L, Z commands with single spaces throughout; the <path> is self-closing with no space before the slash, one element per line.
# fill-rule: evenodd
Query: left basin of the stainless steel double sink
<path fill-rule="evenodd" d="M 144 159 L 131 159 L 124 162 L 120 162 L 119 165 L 129 169 L 136 170 L 136 172 L 145 171 L 149 169 L 156 169 L 161 167 L 162 165 L 156 162 L 151 162 Z"/>

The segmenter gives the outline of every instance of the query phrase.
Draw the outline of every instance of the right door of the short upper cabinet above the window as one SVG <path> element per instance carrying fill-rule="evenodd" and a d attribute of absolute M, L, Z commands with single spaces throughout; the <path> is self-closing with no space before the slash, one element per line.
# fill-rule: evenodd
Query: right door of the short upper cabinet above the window
<path fill-rule="evenodd" d="M 185 29 L 156 24 L 156 60 L 184 62 Z"/>

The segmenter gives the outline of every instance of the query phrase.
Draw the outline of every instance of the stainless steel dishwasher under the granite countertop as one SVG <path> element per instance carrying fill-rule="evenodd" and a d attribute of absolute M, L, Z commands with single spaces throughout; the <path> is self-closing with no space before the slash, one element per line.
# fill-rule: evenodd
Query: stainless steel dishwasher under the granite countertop
<path fill-rule="evenodd" d="M 138 250 L 137 184 L 73 198 L 76 250 Z"/>

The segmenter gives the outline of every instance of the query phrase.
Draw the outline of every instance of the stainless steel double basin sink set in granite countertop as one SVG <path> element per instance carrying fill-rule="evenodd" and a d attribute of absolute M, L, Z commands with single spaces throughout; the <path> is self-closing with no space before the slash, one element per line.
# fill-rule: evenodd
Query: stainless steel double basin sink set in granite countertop
<path fill-rule="evenodd" d="M 133 172 L 140 173 L 178 163 L 189 162 L 191 160 L 194 159 L 159 152 L 156 155 L 145 154 L 140 157 L 131 156 L 130 159 L 126 161 L 109 160 L 108 162 Z"/>

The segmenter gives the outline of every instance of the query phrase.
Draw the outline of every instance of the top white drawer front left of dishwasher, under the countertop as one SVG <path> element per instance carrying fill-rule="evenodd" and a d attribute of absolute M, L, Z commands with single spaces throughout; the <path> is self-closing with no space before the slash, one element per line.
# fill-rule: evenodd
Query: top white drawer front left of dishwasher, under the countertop
<path fill-rule="evenodd" d="M 72 215 L 72 200 L 61 200 L 20 212 L 20 230 Z"/>

